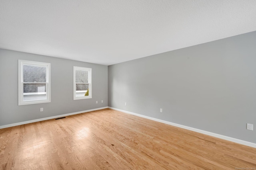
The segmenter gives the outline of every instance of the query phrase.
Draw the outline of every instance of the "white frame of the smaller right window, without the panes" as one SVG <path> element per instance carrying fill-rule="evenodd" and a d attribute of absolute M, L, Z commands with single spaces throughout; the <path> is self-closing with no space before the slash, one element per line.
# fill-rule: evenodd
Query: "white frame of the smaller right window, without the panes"
<path fill-rule="evenodd" d="M 76 96 L 76 70 L 83 70 L 83 71 L 88 71 L 88 83 L 84 83 L 84 84 L 88 84 L 89 85 L 89 96 Z M 80 100 L 80 99 L 90 99 L 92 98 L 92 68 L 86 68 L 86 67 L 78 67 L 78 66 L 74 66 L 73 69 L 73 94 L 74 94 L 74 100 Z"/>

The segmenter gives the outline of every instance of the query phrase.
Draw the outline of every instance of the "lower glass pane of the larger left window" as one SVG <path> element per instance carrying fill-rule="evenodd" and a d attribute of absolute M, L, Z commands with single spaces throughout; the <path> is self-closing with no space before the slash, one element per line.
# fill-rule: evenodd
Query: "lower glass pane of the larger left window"
<path fill-rule="evenodd" d="M 46 84 L 23 84 L 23 100 L 46 100 Z"/>

